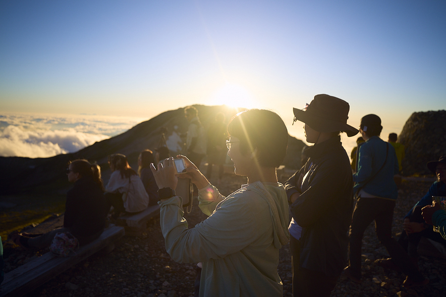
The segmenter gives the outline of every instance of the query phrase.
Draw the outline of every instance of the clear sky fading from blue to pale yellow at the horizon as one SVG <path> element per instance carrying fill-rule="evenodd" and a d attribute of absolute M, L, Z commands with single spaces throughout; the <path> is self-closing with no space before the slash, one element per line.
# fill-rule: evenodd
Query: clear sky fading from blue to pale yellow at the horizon
<path fill-rule="evenodd" d="M 0 2 L 0 112 L 152 118 L 189 104 L 277 111 L 316 94 L 382 118 L 445 109 L 446 1 Z M 354 144 L 356 137 L 344 141 Z"/>

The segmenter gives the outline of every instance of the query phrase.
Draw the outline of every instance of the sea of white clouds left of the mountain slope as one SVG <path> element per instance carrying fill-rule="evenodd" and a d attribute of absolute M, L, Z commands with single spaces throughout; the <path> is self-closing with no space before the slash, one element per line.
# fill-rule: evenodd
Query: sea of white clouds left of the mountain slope
<path fill-rule="evenodd" d="M 0 156 L 37 158 L 75 152 L 142 121 L 98 115 L 0 114 Z"/>

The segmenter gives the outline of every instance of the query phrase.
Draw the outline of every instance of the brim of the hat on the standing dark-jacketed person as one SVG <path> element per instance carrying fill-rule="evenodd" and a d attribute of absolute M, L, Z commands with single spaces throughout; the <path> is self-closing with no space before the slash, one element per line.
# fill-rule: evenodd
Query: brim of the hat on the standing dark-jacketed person
<path fill-rule="evenodd" d="M 310 126 L 312 129 L 318 131 L 318 132 L 345 132 L 348 137 L 355 136 L 359 133 L 359 130 L 356 128 L 353 128 L 352 126 L 348 125 L 347 123 L 342 123 L 338 121 L 333 121 L 327 118 L 320 118 L 315 115 L 310 115 L 306 111 L 293 108 L 294 116 L 296 117 L 296 120 L 303 122 Z"/>

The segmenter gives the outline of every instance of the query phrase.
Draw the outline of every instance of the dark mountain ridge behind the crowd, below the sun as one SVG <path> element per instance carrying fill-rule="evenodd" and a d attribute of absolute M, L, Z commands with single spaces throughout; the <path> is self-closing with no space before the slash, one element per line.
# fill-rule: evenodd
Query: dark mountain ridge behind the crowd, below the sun
<path fill-rule="evenodd" d="M 198 116 L 207 129 L 218 112 L 223 112 L 226 122 L 238 111 L 244 108 L 234 108 L 226 105 L 207 106 L 193 105 L 198 110 Z M 188 122 L 184 117 L 184 108 L 169 110 L 158 116 L 142 122 L 130 130 L 111 137 L 110 139 L 94 143 L 77 152 L 59 154 L 49 158 L 0 157 L 0 193 L 1 195 L 26 193 L 64 193 L 70 188 L 65 169 L 70 160 L 85 158 L 101 166 L 103 179 L 107 182 L 111 174 L 107 157 L 112 153 L 125 154 L 133 169 L 137 169 L 137 159 L 141 150 L 157 148 L 163 132 L 166 137 L 184 142 Z M 180 143 L 171 148 L 172 155 L 180 153 Z M 288 151 L 284 165 L 297 168 L 300 164 L 300 151 L 304 143 L 293 137 L 288 139 Z"/>

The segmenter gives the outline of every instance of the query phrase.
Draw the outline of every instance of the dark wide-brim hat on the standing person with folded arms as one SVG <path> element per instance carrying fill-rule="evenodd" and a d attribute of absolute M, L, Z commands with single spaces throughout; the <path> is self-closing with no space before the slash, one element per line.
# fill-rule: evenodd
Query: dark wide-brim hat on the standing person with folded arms
<path fill-rule="evenodd" d="M 301 121 L 318 132 L 347 133 L 348 137 L 355 136 L 359 130 L 347 124 L 350 105 L 342 99 L 320 94 L 307 104 L 304 109 L 293 108 L 294 121 Z"/>

